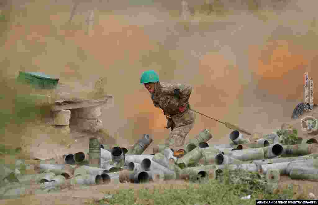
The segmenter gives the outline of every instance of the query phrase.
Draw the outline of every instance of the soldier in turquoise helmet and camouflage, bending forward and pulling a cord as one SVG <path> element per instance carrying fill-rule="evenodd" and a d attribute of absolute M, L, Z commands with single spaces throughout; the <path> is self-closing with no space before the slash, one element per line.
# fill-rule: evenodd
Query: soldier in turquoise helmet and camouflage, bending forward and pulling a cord
<path fill-rule="evenodd" d="M 140 83 L 149 91 L 154 105 L 163 110 L 168 120 L 166 128 L 170 128 L 171 132 L 165 141 L 165 147 L 174 151 L 183 149 L 185 137 L 195 121 L 195 113 L 190 110 L 189 105 L 192 86 L 159 82 L 158 74 L 154 70 L 143 72 Z M 159 149 L 155 147 L 154 153 Z"/>

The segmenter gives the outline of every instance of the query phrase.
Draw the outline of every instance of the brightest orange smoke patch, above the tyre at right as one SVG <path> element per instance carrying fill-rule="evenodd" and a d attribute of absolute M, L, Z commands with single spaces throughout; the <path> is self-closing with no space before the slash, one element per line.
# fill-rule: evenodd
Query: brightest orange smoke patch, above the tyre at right
<path fill-rule="evenodd" d="M 286 40 L 272 41 L 260 48 L 249 47 L 249 67 L 258 88 L 285 99 L 299 99 L 303 92 L 303 73 L 309 52 Z"/>

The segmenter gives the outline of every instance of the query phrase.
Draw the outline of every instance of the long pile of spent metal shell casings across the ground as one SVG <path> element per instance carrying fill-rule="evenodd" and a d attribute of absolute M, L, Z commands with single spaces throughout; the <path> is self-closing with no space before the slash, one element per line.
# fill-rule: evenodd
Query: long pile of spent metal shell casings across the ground
<path fill-rule="evenodd" d="M 228 145 L 209 146 L 207 141 L 212 135 L 205 129 L 185 143 L 183 149 L 158 145 L 153 154 L 142 154 L 153 141 L 148 134 L 129 148 L 110 147 L 100 144 L 97 138 L 90 138 L 88 150 L 64 155 L 64 164 L 39 163 L 35 167 L 38 174 L 21 175 L 0 167 L 3 181 L 0 197 L 61 191 L 67 185 L 167 180 L 207 182 L 209 178 L 217 179 L 224 169 L 257 172 L 272 184 L 279 181 L 280 175 L 289 175 L 291 179 L 318 179 L 318 154 L 315 154 L 318 144 L 309 144 L 315 140 L 282 145 L 279 135 L 271 133 L 250 141 L 237 130 L 232 131 L 229 138 Z"/>

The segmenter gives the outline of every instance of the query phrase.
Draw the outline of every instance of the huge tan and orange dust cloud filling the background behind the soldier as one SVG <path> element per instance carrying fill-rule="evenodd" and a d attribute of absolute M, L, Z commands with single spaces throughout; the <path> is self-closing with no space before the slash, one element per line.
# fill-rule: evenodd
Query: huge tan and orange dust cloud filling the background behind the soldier
<path fill-rule="evenodd" d="M 90 37 L 85 20 L 93 4 Z M 303 98 L 303 73 L 318 74 L 313 1 L 255 14 L 195 16 L 192 23 L 157 3 L 93 4 L 79 3 L 68 25 L 69 1 L 13 1 L 1 69 L 4 78 L 16 78 L 19 70 L 44 72 L 78 89 L 93 89 L 106 77 L 114 103 L 101 120 L 117 144 L 133 144 L 145 133 L 157 144 L 169 134 L 162 111 L 139 83 L 145 70 L 156 70 L 164 82 L 193 85 L 194 110 L 264 133 L 290 120 Z M 187 138 L 203 129 L 211 131 L 211 143 L 229 141 L 230 129 L 199 114 Z"/>

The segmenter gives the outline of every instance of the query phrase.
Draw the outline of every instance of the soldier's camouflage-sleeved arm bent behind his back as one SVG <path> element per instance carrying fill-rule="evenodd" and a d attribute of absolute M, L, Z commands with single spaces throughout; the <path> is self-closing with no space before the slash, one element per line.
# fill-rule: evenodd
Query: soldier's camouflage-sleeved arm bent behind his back
<path fill-rule="evenodd" d="M 188 104 L 191 92 L 192 92 L 192 86 L 188 84 L 165 84 L 162 86 L 162 91 L 170 94 L 175 95 L 176 92 L 179 92 L 180 94 L 180 105 L 186 106 Z"/>

